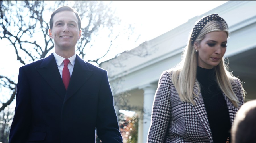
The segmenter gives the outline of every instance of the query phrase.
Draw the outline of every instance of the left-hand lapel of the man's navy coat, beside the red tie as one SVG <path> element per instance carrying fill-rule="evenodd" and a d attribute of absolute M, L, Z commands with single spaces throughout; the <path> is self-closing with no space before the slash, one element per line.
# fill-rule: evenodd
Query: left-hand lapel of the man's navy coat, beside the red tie
<path fill-rule="evenodd" d="M 40 67 L 36 67 L 36 71 L 38 71 L 51 88 L 64 99 L 66 91 L 53 53 L 43 60 Z"/>

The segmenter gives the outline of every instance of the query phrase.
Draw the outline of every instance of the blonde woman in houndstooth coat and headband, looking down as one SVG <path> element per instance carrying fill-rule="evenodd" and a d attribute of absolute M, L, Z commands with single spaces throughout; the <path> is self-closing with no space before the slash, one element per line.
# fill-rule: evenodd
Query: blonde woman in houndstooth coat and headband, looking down
<path fill-rule="evenodd" d="M 224 63 L 228 34 L 218 14 L 195 24 L 183 60 L 159 79 L 148 143 L 230 142 L 246 92 Z"/>

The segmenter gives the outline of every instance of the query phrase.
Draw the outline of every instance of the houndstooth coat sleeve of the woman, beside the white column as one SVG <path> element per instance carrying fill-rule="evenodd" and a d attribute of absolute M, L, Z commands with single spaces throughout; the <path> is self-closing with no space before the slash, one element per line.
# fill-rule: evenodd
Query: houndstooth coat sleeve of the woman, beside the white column
<path fill-rule="evenodd" d="M 154 97 L 148 143 L 162 143 L 166 140 L 168 123 L 171 118 L 170 75 L 163 72 Z"/>

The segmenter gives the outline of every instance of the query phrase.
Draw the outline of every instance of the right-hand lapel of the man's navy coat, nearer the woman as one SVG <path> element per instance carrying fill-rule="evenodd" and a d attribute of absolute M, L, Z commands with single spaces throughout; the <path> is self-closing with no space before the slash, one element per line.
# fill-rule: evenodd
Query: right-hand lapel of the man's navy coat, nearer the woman
<path fill-rule="evenodd" d="M 87 79 L 89 79 L 92 73 L 93 71 L 88 68 L 86 62 L 77 55 L 64 102 L 79 90 Z"/>

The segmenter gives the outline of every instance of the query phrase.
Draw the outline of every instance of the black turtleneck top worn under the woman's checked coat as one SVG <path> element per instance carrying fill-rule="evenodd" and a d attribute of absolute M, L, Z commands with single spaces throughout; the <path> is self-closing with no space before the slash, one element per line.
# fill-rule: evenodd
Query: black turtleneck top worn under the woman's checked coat
<path fill-rule="evenodd" d="M 225 143 L 230 138 L 230 118 L 226 101 L 216 82 L 213 69 L 197 66 L 197 80 L 199 81 L 203 101 L 212 131 L 214 143 Z"/>

